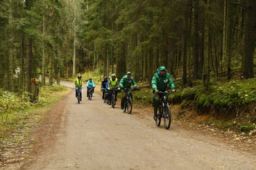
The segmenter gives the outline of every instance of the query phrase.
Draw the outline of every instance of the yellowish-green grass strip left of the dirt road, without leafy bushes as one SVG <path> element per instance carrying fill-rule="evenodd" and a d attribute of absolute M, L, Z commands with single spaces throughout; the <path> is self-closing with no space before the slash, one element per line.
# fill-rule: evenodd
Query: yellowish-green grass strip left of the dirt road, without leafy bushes
<path fill-rule="evenodd" d="M 3 91 L 1 91 L 3 93 Z M 6 93 L 6 92 L 5 92 Z M 15 106 L 8 111 L 4 111 L 1 105 L 1 115 L 4 119 L 0 119 L 0 142 L 8 140 L 11 135 L 23 133 L 24 137 L 28 136 L 28 131 L 33 128 L 37 122 L 41 122 L 42 118 L 53 104 L 58 102 L 63 95 L 69 93 L 64 86 L 44 86 L 40 88 L 39 100 L 35 104 L 31 104 L 22 100 L 22 97 L 15 93 L 11 93 L 15 99 Z M 1 94 L 1 93 L 0 93 Z M 24 107 L 24 104 L 26 107 Z"/>

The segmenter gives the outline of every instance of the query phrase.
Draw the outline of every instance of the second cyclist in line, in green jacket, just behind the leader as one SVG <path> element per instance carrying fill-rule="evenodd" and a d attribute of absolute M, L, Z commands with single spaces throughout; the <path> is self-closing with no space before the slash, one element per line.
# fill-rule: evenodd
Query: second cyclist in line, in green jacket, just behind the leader
<path fill-rule="evenodd" d="M 137 84 L 135 80 L 133 79 L 133 77 L 131 77 L 130 71 L 128 71 L 126 75 L 124 75 L 123 78 L 121 79 L 119 85 L 121 88 L 130 88 L 132 84 L 133 84 L 133 88 L 137 88 Z M 122 94 L 121 109 L 123 109 L 124 102 L 126 101 L 126 90 L 122 90 L 121 94 Z M 133 100 L 132 91 L 130 91 L 130 95 Z"/>

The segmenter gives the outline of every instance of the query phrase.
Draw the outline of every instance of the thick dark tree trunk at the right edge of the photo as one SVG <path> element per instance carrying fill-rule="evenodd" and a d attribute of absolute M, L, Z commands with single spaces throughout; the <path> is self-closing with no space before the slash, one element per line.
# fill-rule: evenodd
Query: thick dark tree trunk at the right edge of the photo
<path fill-rule="evenodd" d="M 247 0 L 246 31 L 244 37 L 244 77 L 253 78 L 255 35 L 256 35 L 256 1 Z"/>

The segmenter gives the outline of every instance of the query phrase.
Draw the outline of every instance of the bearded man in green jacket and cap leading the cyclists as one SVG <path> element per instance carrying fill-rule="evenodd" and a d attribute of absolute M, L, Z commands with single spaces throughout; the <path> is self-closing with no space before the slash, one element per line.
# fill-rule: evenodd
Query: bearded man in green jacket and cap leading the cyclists
<path fill-rule="evenodd" d="M 158 91 L 166 91 L 167 84 L 173 92 L 175 92 L 175 86 L 171 75 L 167 73 L 165 66 L 157 68 L 157 73 L 152 78 L 152 90 L 153 90 L 153 107 L 154 107 L 154 120 L 157 120 L 157 107 L 160 105 L 160 93 Z"/>

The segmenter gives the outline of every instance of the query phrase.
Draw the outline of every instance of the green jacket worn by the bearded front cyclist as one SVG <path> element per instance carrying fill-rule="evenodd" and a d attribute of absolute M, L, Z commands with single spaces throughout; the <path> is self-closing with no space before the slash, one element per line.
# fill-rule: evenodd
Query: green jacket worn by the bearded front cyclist
<path fill-rule="evenodd" d="M 155 91 L 155 89 L 157 89 L 158 91 L 166 91 L 167 84 L 169 84 L 169 87 L 171 89 L 175 88 L 173 79 L 171 78 L 171 75 L 169 73 L 164 76 L 160 75 L 159 72 L 155 73 L 151 82 L 153 92 Z"/>

